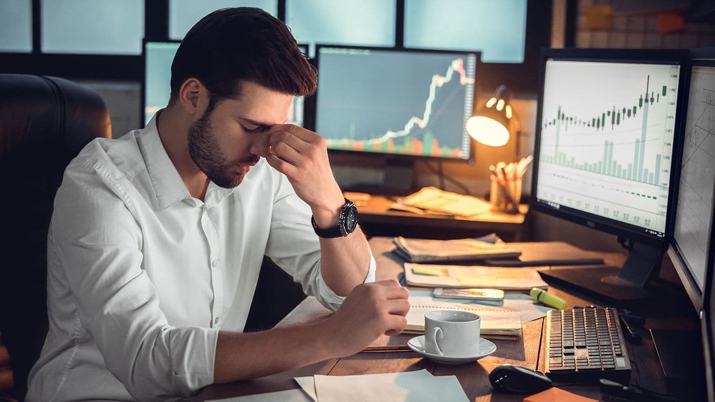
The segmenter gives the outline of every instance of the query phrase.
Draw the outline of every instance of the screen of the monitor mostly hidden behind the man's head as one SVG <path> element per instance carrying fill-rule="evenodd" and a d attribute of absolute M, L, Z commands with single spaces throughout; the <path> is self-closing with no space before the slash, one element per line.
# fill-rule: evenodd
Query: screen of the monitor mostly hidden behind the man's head
<path fill-rule="evenodd" d="M 142 82 L 142 110 L 144 125 L 149 123 L 154 114 L 166 107 L 171 95 L 171 70 L 174 54 L 181 41 L 144 41 L 144 80 Z M 305 54 L 307 48 L 299 46 Z M 288 110 L 286 123 L 303 125 L 304 97 L 293 97 Z"/>

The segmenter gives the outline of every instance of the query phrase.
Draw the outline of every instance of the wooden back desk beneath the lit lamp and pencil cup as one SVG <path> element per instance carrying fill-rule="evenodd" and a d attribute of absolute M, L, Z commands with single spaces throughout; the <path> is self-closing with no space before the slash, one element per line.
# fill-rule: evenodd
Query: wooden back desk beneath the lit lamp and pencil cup
<path fill-rule="evenodd" d="M 528 240 L 524 236 L 524 221 L 528 205 L 519 207 L 521 213 L 486 212 L 476 218 L 457 215 L 417 215 L 413 212 L 390 210 L 393 200 L 373 195 L 358 204 L 360 226 L 373 236 L 409 236 L 423 239 L 456 239 L 478 237 L 496 232 L 505 241 Z"/>

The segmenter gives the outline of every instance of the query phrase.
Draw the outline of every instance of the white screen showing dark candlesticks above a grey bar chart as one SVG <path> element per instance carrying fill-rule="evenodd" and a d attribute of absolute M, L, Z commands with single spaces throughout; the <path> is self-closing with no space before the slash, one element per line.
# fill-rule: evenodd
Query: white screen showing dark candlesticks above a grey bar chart
<path fill-rule="evenodd" d="M 680 69 L 549 60 L 538 196 L 664 232 Z"/>

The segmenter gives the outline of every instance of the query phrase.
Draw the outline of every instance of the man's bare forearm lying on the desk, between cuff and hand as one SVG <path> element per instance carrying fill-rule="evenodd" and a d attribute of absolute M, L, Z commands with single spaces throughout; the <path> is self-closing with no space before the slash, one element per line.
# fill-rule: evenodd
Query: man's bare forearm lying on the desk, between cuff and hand
<path fill-rule="evenodd" d="M 340 356 L 327 321 L 254 333 L 220 331 L 214 383 L 266 376 Z"/>

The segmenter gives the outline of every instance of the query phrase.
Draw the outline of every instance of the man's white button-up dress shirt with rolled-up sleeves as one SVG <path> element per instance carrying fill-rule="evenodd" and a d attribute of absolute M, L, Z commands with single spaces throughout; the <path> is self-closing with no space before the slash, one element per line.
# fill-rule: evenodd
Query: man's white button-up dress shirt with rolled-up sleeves
<path fill-rule="evenodd" d="M 95 139 L 64 173 L 28 401 L 167 401 L 211 384 L 218 331 L 243 330 L 263 255 L 326 307 L 342 303 L 320 273 L 310 207 L 284 175 L 261 159 L 235 189 L 209 183 L 198 200 L 156 118 Z"/>

